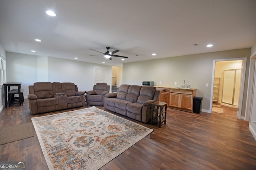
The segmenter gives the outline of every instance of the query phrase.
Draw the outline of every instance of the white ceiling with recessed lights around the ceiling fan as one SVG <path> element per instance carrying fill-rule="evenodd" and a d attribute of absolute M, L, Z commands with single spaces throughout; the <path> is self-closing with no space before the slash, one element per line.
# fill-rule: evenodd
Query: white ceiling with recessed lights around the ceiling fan
<path fill-rule="evenodd" d="M 0 0 L 0 44 L 9 52 L 122 66 L 255 43 L 256 0 Z M 128 59 L 89 56 L 106 47 Z"/>

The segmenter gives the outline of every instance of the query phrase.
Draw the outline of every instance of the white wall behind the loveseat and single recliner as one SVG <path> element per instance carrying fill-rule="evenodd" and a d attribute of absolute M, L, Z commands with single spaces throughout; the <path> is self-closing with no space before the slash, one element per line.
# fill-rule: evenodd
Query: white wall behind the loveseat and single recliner
<path fill-rule="evenodd" d="M 92 90 L 94 67 L 106 68 L 106 83 L 111 84 L 112 66 L 6 52 L 7 82 L 22 82 L 24 98 L 29 94 L 28 86 L 38 80 L 74 82 L 80 91 Z"/>

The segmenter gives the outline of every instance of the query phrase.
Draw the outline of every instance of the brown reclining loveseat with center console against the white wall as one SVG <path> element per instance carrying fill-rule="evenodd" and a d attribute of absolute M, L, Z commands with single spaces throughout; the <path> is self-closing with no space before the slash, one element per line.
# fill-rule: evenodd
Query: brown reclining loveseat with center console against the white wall
<path fill-rule="evenodd" d="M 28 89 L 28 105 L 32 115 L 85 105 L 84 92 L 78 92 L 74 83 L 36 82 Z"/>

